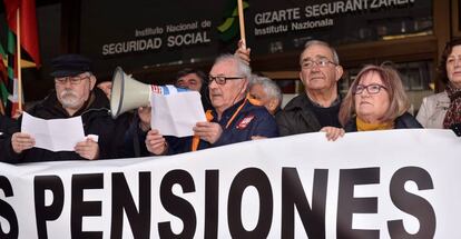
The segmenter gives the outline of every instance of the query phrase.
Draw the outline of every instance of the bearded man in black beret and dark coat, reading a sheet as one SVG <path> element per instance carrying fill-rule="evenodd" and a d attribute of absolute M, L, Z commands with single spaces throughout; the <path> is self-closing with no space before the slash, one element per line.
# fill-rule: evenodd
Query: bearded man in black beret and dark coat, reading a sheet
<path fill-rule="evenodd" d="M 33 137 L 16 132 L 11 137 L 8 158 L 11 162 L 31 162 L 116 157 L 112 150 L 112 140 L 117 138 L 114 136 L 115 121 L 108 111 L 109 101 L 105 93 L 95 88 L 96 77 L 91 73 L 90 60 L 79 54 L 66 54 L 53 59 L 52 67 L 51 76 L 55 78 L 56 91 L 28 112 L 41 119 L 66 119 L 81 116 L 85 135 L 96 135 L 98 140 L 88 138 L 78 142 L 75 151 L 52 152 L 32 148 Z"/>

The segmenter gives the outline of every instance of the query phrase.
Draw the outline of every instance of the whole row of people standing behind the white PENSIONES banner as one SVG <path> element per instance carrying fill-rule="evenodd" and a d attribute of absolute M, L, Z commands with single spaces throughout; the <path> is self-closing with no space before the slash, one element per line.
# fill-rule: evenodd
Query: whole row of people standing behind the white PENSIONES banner
<path fill-rule="evenodd" d="M 96 160 L 165 156 L 219 147 L 247 140 L 323 131 L 328 140 L 346 132 L 461 128 L 461 39 L 450 41 L 439 66 L 447 88 L 423 99 L 416 117 L 399 72 L 389 64 L 363 67 L 344 98 L 337 89 L 343 68 L 334 48 L 318 40 L 306 42 L 300 56 L 304 92 L 282 109 L 282 91 L 263 76 L 252 74 L 249 49 L 239 42 L 234 54 L 218 57 L 208 76 L 184 69 L 176 87 L 198 91 L 206 121 L 194 136 L 163 136 L 150 128 L 150 107 L 144 106 L 117 119 L 110 117 L 110 82 L 96 86 L 91 61 L 79 54 L 53 59 L 55 91 L 27 112 L 41 119 L 80 116 L 85 135 L 96 135 L 75 146 L 75 151 L 52 152 L 35 147 L 35 138 L 21 132 L 21 117 L 0 117 L 0 161 L 10 163 Z"/>

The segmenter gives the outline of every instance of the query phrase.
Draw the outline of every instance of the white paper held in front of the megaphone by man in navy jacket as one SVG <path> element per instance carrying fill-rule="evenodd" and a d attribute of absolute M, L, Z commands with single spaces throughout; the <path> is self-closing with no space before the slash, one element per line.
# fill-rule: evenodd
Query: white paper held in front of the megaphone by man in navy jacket
<path fill-rule="evenodd" d="M 150 96 L 150 127 L 164 136 L 193 136 L 193 127 L 206 121 L 200 93 L 196 91 L 177 92 L 169 88 L 168 94 Z"/>

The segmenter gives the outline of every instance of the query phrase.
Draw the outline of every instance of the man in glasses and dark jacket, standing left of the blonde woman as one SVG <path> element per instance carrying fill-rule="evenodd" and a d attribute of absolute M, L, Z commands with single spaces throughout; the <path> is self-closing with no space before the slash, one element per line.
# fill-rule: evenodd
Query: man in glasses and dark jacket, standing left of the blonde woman
<path fill-rule="evenodd" d="M 330 140 L 344 135 L 337 114 L 341 98 L 337 81 L 343 68 L 335 49 L 317 40 L 307 41 L 300 57 L 304 92 L 276 114 L 281 136 L 325 131 Z"/>

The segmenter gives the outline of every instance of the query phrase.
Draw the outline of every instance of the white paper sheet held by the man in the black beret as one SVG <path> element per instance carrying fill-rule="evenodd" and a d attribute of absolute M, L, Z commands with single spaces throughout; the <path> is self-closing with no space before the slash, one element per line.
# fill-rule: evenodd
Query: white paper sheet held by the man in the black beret
<path fill-rule="evenodd" d="M 85 140 L 81 117 L 43 120 L 24 112 L 21 132 L 27 132 L 36 139 L 35 147 L 55 152 L 75 151 L 77 142 Z"/>

